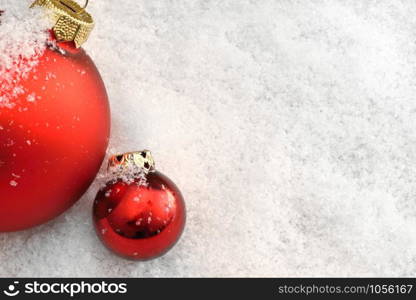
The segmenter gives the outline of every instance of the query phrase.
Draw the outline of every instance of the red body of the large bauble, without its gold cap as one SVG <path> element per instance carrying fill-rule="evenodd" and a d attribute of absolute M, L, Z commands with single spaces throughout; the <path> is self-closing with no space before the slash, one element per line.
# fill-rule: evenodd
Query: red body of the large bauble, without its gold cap
<path fill-rule="evenodd" d="M 104 83 L 73 43 L 48 48 L 19 86 L 15 105 L 0 107 L 0 232 L 44 223 L 74 204 L 110 133 Z"/>

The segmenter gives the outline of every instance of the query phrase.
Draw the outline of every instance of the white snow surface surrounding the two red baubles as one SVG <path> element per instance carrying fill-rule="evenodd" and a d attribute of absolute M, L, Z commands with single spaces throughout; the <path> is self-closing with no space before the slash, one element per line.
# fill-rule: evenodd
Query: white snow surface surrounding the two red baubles
<path fill-rule="evenodd" d="M 185 196 L 185 233 L 157 260 L 112 255 L 92 186 L 56 220 L 0 234 L 0 276 L 416 276 L 415 1 L 89 11 L 110 152 L 153 151 Z"/>

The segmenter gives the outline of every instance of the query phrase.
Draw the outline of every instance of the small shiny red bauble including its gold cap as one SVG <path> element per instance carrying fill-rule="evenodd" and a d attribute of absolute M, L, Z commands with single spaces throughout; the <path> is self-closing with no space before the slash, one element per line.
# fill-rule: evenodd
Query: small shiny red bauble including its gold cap
<path fill-rule="evenodd" d="M 123 172 L 138 161 L 149 171 L 129 171 L 130 175 L 108 182 L 97 194 L 93 219 L 107 248 L 125 258 L 147 260 L 163 255 L 178 241 L 185 225 L 185 204 L 176 185 L 153 169 L 150 152 L 110 160 Z"/>

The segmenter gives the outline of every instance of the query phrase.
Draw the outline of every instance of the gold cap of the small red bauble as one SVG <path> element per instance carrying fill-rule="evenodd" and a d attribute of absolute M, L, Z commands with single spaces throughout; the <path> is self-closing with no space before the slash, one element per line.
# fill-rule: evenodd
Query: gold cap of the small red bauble
<path fill-rule="evenodd" d="M 108 168 L 120 166 L 136 166 L 145 171 L 153 171 L 155 169 L 155 161 L 149 150 L 127 152 L 111 156 L 108 160 Z"/>

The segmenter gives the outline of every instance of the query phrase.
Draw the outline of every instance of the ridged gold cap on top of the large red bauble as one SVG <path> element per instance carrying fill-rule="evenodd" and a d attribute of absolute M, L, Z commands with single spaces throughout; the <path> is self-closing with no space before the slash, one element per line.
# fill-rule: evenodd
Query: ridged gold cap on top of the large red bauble
<path fill-rule="evenodd" d="M 88 4 L 88 0 L 86 5 Z M 85 5 L 85 7 L 86 7 Z M 53 32 L 60 42 L 74 42 L 79 48 L 94 28 L 94 20 L 85 7 L 73 0 L 36 0 L 31 7 L 40 6 L 51 13 Z"/>

